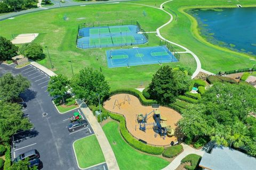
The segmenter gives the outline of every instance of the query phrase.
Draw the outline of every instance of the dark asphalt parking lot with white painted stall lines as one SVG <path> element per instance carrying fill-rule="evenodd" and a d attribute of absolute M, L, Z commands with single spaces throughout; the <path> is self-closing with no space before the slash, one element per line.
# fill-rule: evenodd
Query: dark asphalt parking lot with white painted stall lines
<path fill-rule="evenodd" d="M 21 97 L 27 103 L 23 112 L 34 127 L 13 136 L 12 159 L 28 150 L 37 149 L 43 163 L 42 169 L 78 169 L 73 142 L 94 133 L 90 124 L 74 132 L 68 131 L 69 117 L 74 112 L 82 113 L 81 109 L 60 114 L 47 92 L 49 76 L 32 65 L 22 69 L 14 69 L 14 66 L 0 64 L 0 76 L 12 72 L 14 75 L 22 74 L 31 82 L 31 87 Z M 107 165 L 90 169 L 107 169 Z"/>

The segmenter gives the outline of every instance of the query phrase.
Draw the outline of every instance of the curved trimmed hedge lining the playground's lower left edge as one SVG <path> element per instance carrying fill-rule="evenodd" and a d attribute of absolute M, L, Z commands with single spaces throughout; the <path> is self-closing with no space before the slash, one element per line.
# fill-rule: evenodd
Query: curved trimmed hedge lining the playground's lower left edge
<path fill-rule="evenodd" d="M 120 132 L 124 138 L 124 140 L 129 143 L 133 148 L 138 149 L 142 152 L 146 152 L 148 154 L 153 155 L 161 155 L 164 151 L 163 147 L 153 147 L 146 145 L 145 143 L 142 143 L 138 141 L 137 139 L 133 138 L 133 136 L 129 133 L 129 131 L 126 129 L 125 126 L 125 118 L 121 115 L 108 113 L 108 115 L 113 118 L 114 120 L 120 122 Z"/>

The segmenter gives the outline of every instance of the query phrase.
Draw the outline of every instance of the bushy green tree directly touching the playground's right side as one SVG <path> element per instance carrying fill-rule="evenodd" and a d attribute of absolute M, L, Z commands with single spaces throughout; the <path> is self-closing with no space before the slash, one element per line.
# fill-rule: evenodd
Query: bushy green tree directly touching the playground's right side
<path fill-rule="evenodd" d="M 178 122 L 178 128 L 186 137 L 197 140 L 198 137 L 209 135 L 211 127 L 205 119 L 205 105 L 189 105 L 182 111 L 182 118 Z"/>

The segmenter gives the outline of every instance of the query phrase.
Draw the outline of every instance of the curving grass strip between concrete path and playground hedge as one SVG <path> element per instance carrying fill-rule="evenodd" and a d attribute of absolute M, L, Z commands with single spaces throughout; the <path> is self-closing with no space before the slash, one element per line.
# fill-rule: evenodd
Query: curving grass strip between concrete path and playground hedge
<path fill-rule="evenodd" d="M 108 141 L 113 149 L 119 168 L 122 169 L 162 169 L 169 164 L 156 156 L 143 154 L 124 141 L 119 132 L 117 122 L 109 122 L 103 126 Z"/>

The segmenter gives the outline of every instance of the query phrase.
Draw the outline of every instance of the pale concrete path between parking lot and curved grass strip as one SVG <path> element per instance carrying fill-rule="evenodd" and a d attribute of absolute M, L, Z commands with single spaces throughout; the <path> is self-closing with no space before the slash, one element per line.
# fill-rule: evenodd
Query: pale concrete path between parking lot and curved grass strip
<path fill-rule="evenodd" d="M 92 114 L 91 110 L 89 109 L 89 107 L 81 107 L 82 112 L 84 113 L 84 116 L 86 117 L 86 119 L 88 120 L 88 122 L 90 122 L 90 125 L 98 139 L 98 142 L 100 144 L 100 148 L 103 152 L 103 155 L 105 157 L 108 169 L 111 170 L 118 170 L 119 166 L 117 164 L 116 161 L 116 157 L 115 154 L 108 142 L 108 139 L 105 135 L 105 133 L 103 132 L 100 124 L 98 123 L 98 121 L 96 120 L 96 118 L 94 117 L 94 115 Z"/>

